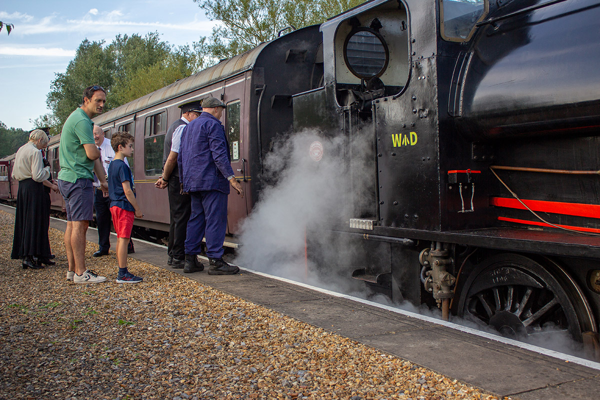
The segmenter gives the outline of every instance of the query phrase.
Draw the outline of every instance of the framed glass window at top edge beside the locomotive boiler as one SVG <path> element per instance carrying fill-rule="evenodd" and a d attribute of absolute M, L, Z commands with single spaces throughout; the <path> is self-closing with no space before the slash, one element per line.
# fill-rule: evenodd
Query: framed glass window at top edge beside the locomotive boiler
<path fill-rule="evenodd" d="M 467 41 L 488 13 L 488 0 L 440 0 L 440 32 L 448 41 Z"/>

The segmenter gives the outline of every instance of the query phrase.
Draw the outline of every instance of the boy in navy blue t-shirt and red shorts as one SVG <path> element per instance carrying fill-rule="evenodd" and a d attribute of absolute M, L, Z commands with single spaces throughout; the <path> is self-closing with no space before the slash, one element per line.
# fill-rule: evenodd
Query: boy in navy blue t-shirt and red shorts
<path fill-rule="evenodd" d="M 127 270 L 127 245 L 133 228 L 133 218 L 142 218 L 142 210 L 137 205 L 136 193 L 133 191 L 131 169 L 125 164 L 125 157 L 133 155 L 133 136 L 126 132 L 117 132 L 110 139 L 110 146 L 115 151 L 115 158 L 109 166 L 110 213 L 115 224 L 116 259 L 119 261 L 117 283 L 139 283 L 142 278 Z"/>

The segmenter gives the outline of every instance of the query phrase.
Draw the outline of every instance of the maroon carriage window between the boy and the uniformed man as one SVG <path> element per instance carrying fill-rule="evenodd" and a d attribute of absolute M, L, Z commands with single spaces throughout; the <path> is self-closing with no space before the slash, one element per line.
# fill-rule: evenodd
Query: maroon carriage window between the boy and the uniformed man
<path fill-rule="evenodd" d="M 144 127 L 144 169 L 146 176 L 157 176 L 163 170 L 164 136 L 167 133 L 167 113 L 146 117 Z"/>

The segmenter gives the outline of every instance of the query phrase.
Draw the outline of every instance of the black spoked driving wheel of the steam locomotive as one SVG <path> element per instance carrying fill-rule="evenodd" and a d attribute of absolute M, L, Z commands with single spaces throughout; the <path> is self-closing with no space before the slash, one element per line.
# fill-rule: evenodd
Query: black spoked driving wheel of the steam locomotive
<path fill-rule="evenodd" d="M 568 333 L 595 330 L 587 300 L 556 263 L 520 254 L 500 254 L 479 264 L 463 286 L 458 315 L 500 335 L 544 344 Z"/>

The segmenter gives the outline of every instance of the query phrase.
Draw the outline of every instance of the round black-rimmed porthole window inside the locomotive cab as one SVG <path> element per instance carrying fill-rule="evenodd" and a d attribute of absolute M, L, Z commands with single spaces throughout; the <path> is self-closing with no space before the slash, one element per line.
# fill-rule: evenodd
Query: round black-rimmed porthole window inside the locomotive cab
<path fill-rule="evenodd" d="M 381 76 L 388 67 L 388 59 L 388 45 L 379 33 L 361 28 L 346 38 L 344 61 L 355 76 L 361 79 Z"/>

